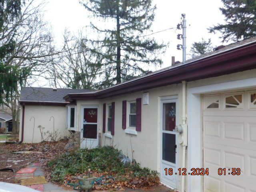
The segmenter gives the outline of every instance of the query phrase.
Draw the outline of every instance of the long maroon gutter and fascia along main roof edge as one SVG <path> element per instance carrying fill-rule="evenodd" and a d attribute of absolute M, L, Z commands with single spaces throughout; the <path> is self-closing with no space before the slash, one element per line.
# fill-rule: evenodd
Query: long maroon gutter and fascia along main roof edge
<path fill-rule="evenodd" d="M 68 94 L 65 100 L 102 99 L 256 68 L 256 41 L 243 44 L 168 70 L 160 71 L 90 94 Z"/>

